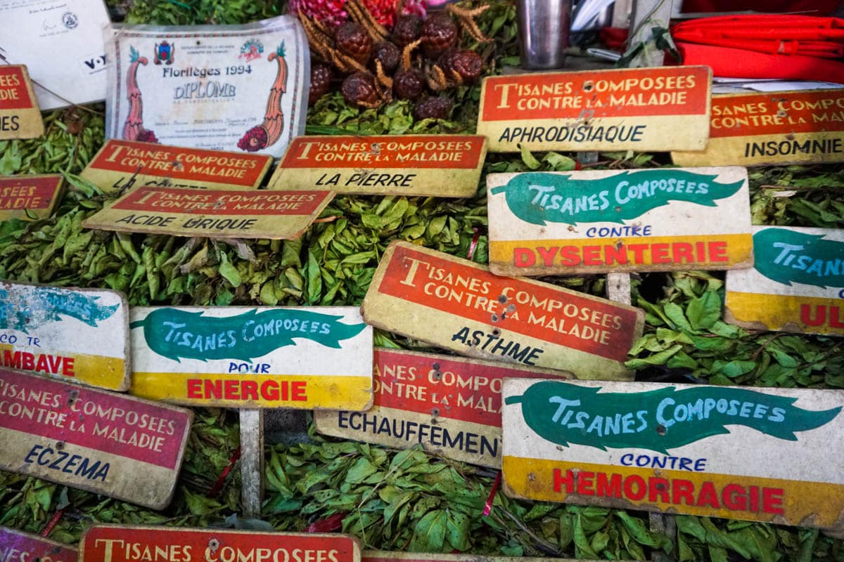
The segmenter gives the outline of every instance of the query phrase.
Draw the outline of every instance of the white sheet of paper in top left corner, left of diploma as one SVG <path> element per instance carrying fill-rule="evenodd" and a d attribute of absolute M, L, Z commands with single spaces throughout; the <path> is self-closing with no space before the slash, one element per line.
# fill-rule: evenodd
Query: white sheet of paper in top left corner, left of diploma
<path fill-rule="evenodd" d="M 109 21 L 102 0 L 0 0 L 0 55 L 26 65 L 41 110 L 100 101 Z"/>

